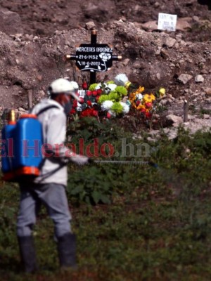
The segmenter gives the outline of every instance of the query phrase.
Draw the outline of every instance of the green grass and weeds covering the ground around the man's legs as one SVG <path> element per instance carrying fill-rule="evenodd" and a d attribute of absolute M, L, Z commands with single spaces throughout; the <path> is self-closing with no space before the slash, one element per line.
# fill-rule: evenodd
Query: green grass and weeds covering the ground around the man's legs
<path fill-rule="evenodd" d="M 190 136 L 180 128 L 173 141 L 162 136 L 149 143 L 157 148 L 151 160 L 158 163 L 158 169 L 148 165 L 70 166 L 68 200 L 77 234 L 75 272 L 59 270 L 53 224 L 44 209 L 34 228 L 41 269 L 32 276 L 20 270 L 15 238 L 18 186 L 1 182 L 1 281 L 210 280 L 210 135 Z M 114 132 L 113 144 L 120 146 Z M 79 192 L 72 193 L 84 182 Z M 94 191 L 109 202 L 96 204 Z M 84 192 L 86 196 L 80 196 Z"/>

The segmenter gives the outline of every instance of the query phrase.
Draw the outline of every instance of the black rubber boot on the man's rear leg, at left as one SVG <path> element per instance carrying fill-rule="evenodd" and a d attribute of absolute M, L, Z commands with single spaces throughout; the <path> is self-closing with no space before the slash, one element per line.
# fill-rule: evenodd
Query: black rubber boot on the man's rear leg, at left
<path fill-rule="evenodd" d="M 34 240 L 32 236 L 18 237 L 20 247 L 20 257 L 25 267 L 26 273 L 34 273 L 37 271 L 37 259 L 34 249 Z"/>

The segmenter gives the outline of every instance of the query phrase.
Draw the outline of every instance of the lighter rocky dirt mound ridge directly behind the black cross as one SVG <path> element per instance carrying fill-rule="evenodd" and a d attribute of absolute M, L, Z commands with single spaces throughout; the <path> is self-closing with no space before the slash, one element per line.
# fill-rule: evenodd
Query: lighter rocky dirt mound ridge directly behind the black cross
<path fill-rule="evenodd" d="M 18 103 L 25 107 L 27 91 L 32 90 L 36 100 L 52 79 L 69 76 L 81 84 L 87 73 L 77 72 L 74 62 L 70 66 L 63 61 L 65 54 L 75 53 L 75 46 L 90 41 L 90 32 L 85 29 L 57 31 L 49 38 L 2 32 L 0 37 L 1 96 L 5 106 Z M 124 69 L 129 79 L 147 89 L 165 86 L 172 96 L 179 97 L 188 84 L 178 77 L 188 73 L 193 77 L 191 89 L 203 93 L 210 86 L 210 42 L 193 44 L 181 37 L 145 32 L 122 20 L 103 24 L 98 41 L 114 46 L 114 53 L 121 54 L 123 60 L 114 63 L 110 72 L 98 74 L 97 79 L 112 79 Z M 198 74 L 203 75 L 202 83 L 194 81 Z"/>

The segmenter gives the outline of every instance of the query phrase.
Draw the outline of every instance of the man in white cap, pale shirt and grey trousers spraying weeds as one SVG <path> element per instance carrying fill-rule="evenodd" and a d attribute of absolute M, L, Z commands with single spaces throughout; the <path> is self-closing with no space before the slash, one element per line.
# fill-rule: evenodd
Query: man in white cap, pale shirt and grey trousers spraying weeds
<path fill-rule="evenodd" d="M 66 115 L 74 99 L 78 100 L 75 88 L 66 79 L 56 79 L 49 86 L 50 99 L 37 104 L 32 114 L 37 115 L 42 125 L 46 144 L 40 175 L 30 182 L 20 182 L 20 209 L 17 221 L 17 235 L 20 255 L 25 271 L 37 270 L 32 228 L 36 222 L 37 209 L 43 203 L 54 223 L 58 243 L 58 257 L 61 267 L 76 265 L 76 239 L 72 234 L 65 187 L 68 181 L 67 163 L 87 164 L 89 158 L 82 155 L 67 157 L 65 152 Z"/>

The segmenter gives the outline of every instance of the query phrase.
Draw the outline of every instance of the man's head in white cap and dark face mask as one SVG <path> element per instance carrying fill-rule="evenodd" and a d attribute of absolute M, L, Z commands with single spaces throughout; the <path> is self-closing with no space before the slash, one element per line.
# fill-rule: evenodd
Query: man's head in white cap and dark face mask
<path fill-rule="evenodd" d="M 49 86 L 48 93 L 53 100 L 64 107 L 66 114 L 70 112 L 73 100 L 79 100 L 74 85 L 64 78 L 54 80 Z"/>

